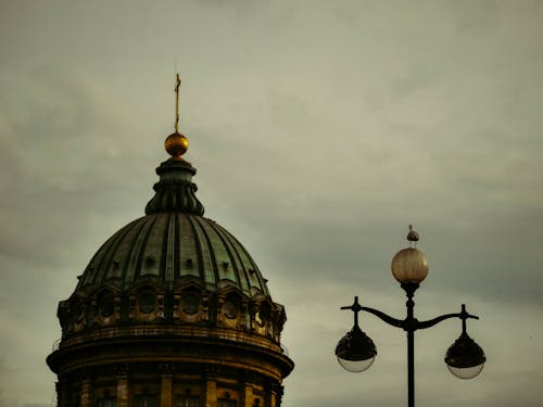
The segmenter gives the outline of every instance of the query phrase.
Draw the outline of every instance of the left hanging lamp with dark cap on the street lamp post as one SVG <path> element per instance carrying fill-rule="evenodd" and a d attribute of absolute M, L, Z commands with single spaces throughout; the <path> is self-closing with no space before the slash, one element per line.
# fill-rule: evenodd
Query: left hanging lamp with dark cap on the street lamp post
<path fill-rule="evenodd" d="M 339 364 L 343 369 L 353 373 L 367 370 L 376 355 L 374 341 L 357 326 L 354 326 L 336 346 Z"/>

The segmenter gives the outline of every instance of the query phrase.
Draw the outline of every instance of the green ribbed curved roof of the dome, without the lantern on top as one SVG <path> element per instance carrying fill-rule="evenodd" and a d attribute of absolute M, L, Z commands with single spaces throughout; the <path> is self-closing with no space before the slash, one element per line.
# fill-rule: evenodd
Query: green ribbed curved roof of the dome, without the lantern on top
<path fill-rule="evenodd" d="M 126 291 L 146 280 L 167 290 L 193 280 L 210 292 L 236 287 L 249 297 L 268 295 L 241 243 L 215 221 L 185 212 L 150 214 L 118 230 L 90 260 L 76 292 Z"/>

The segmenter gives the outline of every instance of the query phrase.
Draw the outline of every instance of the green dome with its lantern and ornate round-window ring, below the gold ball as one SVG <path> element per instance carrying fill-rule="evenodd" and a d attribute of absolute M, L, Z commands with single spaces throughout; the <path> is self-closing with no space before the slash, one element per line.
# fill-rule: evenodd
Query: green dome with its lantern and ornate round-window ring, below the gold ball
<path fill-rule="evenodd" d="M 279 345 L 285 309 L 243 245 L 203 217 L 195 169 L 173 156 L 156 174 L 146 216 L 105 241 L 60 303 L 63 342 L 119 326 L 169 323 L 237 330 L 248 342 L 256 335 Z"/>

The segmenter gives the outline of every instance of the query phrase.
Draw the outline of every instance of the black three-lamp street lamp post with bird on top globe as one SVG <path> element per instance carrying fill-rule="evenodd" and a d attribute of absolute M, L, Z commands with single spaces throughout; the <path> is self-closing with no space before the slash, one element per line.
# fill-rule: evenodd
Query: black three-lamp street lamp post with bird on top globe
<path fill-rule="evenodd" d="M 466 311 L 466 306 L 462 305 L 460 313 L 445 314 L 433 319 L 419 321 L 414 316 L 415 302 L 413 297 L 420 282 L 428 275 L 428 262 L 418 249 L 418 233 L 409 225 L 407 234 L 409 247 L 403 249 L 392 258 L 392 275 L 400 282 L 407 295 L 406 317 L 404 319 L 393 318 L 378 309 L 362 306 L 358 297 L 354 297 L 354 303 L 341 309 L 351 309 L 354 314 L 353 329 L 348 332 L 336 346 L 336 356 L 339 364 L 348 371 L 361 372 L 368 369 L 375 360 L 377 349 L 374 341 L 366 335 L 358 326 L 358 313 L 364 310 L 379 317 L 392 327 L 401 328 L 407 333 L 407 406 L 415 406 L 415 331 L 427 329 L 450 318 L 462 320 L 462 334 L 449 347 L 445 355 L 445 364 L 455 377 L 459 379 L 471 379 L 479 374 L 484 366 L 485 357 L 481 347 L 466 332 L 466 320 L 469 318 L 479 319 L 475 315 Z"/>

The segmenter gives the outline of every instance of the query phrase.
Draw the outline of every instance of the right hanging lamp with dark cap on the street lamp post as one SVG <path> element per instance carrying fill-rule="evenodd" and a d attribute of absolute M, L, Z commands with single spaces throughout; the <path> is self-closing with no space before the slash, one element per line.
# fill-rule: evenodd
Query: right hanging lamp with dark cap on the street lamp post
<path fill-rule="evenodd" d="M 485 361 L 482 348 L 465 332 L 451 345 L 445 355 L 446 367 L 458 379 L 475 378 L 481 372 Z"/>

